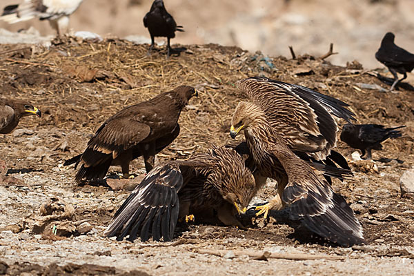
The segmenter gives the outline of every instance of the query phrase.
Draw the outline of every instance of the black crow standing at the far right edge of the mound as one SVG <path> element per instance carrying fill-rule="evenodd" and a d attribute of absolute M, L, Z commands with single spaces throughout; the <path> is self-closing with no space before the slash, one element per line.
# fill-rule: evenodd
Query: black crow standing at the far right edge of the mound
<path fill-rule="evenodd" d="M 414 55 L 396 46 L 394 38 L 395 35 L 392 32 L 387 32 L 381 41 L 380 49 L 375 53 L 375 58 L 388 67 L 394 76 L 390 91 L 394 89 L 397 83 L 406 79 L 407 72 L 411 72 L 414 68 Z M 397 72 L 404 74 L 404 77 L 398 79 Z"/>

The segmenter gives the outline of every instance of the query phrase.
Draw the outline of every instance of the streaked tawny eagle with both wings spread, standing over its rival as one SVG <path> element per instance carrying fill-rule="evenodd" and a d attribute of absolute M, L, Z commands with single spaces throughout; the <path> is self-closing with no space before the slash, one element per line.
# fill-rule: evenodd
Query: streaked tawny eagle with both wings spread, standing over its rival
<path fill-rule="evenodd" d="M 258 215 L 266 217 L 269 210 L 288 204 L 290 217 L 302 219 L 318 235 L 344 246 L 364 243 L 362 226 L 344 198 L 295 154 L 302 152 L 317 160 L 330 157 L 338 131 L 332 115 L 352 119 L 346 103 L 303 86 L 261 77 L 244 79 L 238 87 L 253 103 L 239 103 L 230 135 L 235 138 L 244 130 L 260 174 L 277 181 L 277 195 L 257 208 Z"/>

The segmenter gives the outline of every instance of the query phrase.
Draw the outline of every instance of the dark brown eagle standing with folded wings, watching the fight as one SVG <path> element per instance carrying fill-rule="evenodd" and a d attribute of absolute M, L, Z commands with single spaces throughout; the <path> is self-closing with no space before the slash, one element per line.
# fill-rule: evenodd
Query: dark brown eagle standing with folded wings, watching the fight
<path fill-rule="evenodd" d="M 107 119 L 88 142 L 81 155 L 63 165 L 80 164 L 75 181 L 105 177 L 110 166 L 121 166 L 128 178 L 130 161 L 144 157 L 146 171 L 154 167 L 155 154 L 166 148 L 179 135 L 177 123 L 188 100 L 198 96 L 190 86 L 178 86 L 148 101 L 128 106 Z"/>

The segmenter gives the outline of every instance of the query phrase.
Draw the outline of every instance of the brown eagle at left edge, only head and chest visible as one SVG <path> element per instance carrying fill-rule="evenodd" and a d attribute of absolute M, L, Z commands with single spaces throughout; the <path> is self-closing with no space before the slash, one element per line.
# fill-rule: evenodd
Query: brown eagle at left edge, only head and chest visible
<path fill-rule="evenodd" d="M 29 115 L 41 117 L 41 112 L 27 101 L 0 98 L 0 133 L 12 132 L 19 124 L 20 118 Z"/>

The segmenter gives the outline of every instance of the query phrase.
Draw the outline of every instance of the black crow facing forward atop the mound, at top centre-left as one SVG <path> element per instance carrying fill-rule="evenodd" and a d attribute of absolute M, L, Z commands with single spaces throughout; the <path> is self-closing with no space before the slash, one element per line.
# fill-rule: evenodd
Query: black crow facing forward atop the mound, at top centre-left
<path fill-rule="evenodd" d="M 144 26 L 148 28 L 151 36 L 150 50 L 154 48 L 154 37 L 167 38 L 167 56 L 170 57 L 170 39 L 175 37 L 175 31 L 184 32 L 183 26 L 177 26 L 175 20 L 172 18 L 164 7 L 162 0 L 155 0 L 152 3 L 150 11 L 144 17 Z"/>

